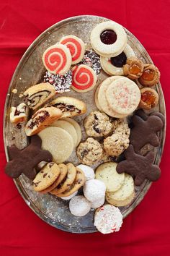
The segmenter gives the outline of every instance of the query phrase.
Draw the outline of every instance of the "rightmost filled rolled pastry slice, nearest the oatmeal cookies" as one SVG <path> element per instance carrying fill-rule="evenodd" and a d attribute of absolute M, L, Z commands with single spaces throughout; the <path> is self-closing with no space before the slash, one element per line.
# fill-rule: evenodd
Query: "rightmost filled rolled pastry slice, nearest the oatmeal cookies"
<path fill-rule="evenodd" d="M 86 104 L 77 98 L 58 97 L 50 102 L 50 105 L 60 108 L 63 113 L 62 117 L 73 117 L 86 113 Z"/>

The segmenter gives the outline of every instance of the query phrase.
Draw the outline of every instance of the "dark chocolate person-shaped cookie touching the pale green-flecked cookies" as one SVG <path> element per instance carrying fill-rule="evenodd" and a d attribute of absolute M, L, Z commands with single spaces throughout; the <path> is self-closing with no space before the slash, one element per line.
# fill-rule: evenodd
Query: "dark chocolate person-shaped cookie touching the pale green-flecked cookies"
<path fill-rule="evenodd" d="M 134 152 L 133 145 L 125 150 L 125 161 L 117 163 L 117 172 L 135 176 L 135 185 L 140 186 L 145 179 L 155 182 L 161 176 L 161 170 L 153 164 L 154 153 L 149 151 L 146 155 L 138 155 Z"/>

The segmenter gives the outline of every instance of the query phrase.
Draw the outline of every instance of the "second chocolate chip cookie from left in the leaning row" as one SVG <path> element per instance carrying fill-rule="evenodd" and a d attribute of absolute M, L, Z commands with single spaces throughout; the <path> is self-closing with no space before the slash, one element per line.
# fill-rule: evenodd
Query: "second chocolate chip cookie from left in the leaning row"
<path fill-rule="evenodd" d="M 67 174 L 67 166 L 66 166 L 66 164 L 59 163 L 58 168 L 61 171 L 58 178 L 55 180 L 55 182 L 50 187 L 43 189 L 42 191 L 40 191 L 40 193 L 46 194 L 46 193 L 50 192 L 51 190 L 55 189 L 55 187 L 57 187 L 58 184 L 61 184 L 61 182 L 63 182 L 63 179 L 66 177 L 66 174 Z"/>

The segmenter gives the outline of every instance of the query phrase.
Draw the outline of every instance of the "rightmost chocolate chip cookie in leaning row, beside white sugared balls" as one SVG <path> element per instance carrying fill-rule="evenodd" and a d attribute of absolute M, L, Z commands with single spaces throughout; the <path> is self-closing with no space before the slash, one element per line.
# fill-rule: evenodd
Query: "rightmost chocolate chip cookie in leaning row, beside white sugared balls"
<path fill-rule="evenodd" d="M 58 197 L 68 197 L 72 195 L 74 192 L 78 191 L 86 182 L 86 177 L 84 175 L 84 172 L 81 171 L 81 169 L 76 168 L 76 178 L 73 181 L 73 184 L 71 184 L 71 187 L 69 187 L 68 190 L 65 192 L 58 194 Z"/>

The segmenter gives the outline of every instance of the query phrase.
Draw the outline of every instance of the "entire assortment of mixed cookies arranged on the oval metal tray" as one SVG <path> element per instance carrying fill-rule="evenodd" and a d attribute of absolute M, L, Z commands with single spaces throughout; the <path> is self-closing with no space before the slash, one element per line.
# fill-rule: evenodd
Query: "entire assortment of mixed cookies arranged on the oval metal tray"
<path fill-rule="evenodd" d="M 143 147 L 158 147 L 165 120 L 161 113 L 142 110 L 158 105 L 153 86 L 160 72 L 136 56 L 123 27 L 101 22 L 89 40 L 91 48 L 86 48 L 81 38 L 65 35 L 42 54 L 42 81 L 28 86 L 24 103 L 13 106 L 10 114 L 13 125 L 24 124 L 30 145 L 23 150 L 8 148 L 6 174 L 13 179 L 24 174 L 32 179 L 35 192 L 70 200 L 73 216 L 97 209 L 94 226 L 109 234 L 120 230 L 119 207 L 133 202 L 135 186 L 161 175 L 153 151 L 143 155 Z M 99 82 L 101 72 L 109 76 Z M 76 97 L 69 95 L 71 90 Z M 86 114 L 89 106 L 81 93 L 88 92 L 97 109 Z M 84 127 L 74 119 L 80 115 Z M 73 152 L 78 165 L 69 161 Z"/>

